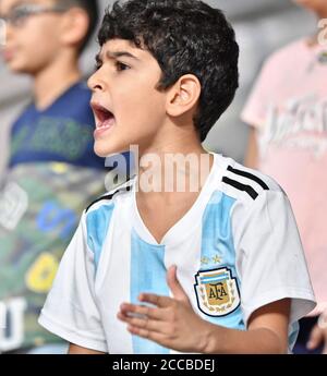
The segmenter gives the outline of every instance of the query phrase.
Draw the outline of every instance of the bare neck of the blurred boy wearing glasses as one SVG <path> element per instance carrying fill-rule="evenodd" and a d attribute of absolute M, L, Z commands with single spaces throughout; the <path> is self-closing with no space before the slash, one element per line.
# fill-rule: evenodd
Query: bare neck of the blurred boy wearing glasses
<path fill-rule="evenodd" d="M 34 75 L 35 106 L 39 110 L 46 109 L 81 78 L 77 59 L 53 62 Z"/>

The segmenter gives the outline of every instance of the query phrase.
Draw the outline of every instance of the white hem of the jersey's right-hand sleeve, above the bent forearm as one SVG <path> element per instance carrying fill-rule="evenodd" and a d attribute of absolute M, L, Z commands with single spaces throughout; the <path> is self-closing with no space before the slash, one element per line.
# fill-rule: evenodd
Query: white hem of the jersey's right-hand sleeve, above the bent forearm
<path fill-rule="evenodd" d="M 298 322 L 301 317 L 306 316 L 316 306 L 315 296 L 311 290 L 283 287 L 281 289 L 267 291 L 254 298 L 251 304 L 243 304 L 242 310 L 245 326 L 247 327 L 250 316 L 256 310 L 282 299 L 291 299 L 290 325 Z"/>

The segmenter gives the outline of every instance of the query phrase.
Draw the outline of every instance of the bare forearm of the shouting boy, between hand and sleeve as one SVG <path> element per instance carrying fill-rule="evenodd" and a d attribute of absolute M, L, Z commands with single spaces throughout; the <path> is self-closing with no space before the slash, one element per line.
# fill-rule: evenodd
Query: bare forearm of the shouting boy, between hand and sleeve
<path fill-rule="evenodd" d="M 270 329 L 235 330 L 207 323 L 205 354 L 284 354 L 287 344 Z"/>

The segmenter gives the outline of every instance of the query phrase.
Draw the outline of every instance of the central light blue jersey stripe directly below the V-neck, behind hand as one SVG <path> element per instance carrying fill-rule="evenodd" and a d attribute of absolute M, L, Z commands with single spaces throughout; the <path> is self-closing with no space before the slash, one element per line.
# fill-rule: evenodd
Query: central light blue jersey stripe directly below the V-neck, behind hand
<path fill-rule="evenodd" d="M 140 304 L 143 292 L 169 296 L 166 282 L 165 245 L 144 242 L 132 230 L 131 239 L 131 302 Z M 132 337 L 134 354 L 169 354 L 169 350 L 137 336 Z"/>

